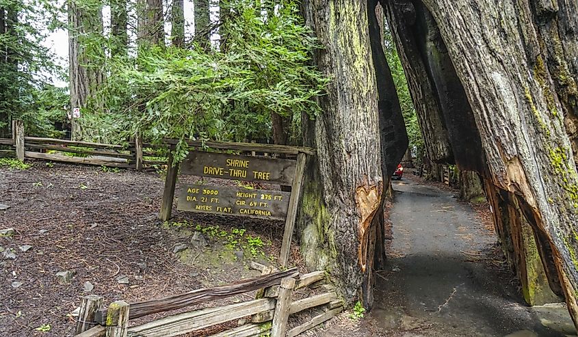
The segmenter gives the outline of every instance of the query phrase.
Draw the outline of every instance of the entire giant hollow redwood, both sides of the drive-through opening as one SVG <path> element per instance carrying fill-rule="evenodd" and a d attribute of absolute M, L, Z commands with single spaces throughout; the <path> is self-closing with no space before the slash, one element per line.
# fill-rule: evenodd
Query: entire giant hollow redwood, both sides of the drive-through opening
<path fill-rule="evenodd" d="M 510 239 L 527 233 L 510 224 L 516 212 L 525 217 L 548 282 L 577 322 L 578 3 L 381 3 L 429 157 L 484 178 L 488 191 L 511 206 L 493 209 L 513 212 L 498 216 L 514 228 L 505 231 Z M 321 100 L 323 116 L 306 126 L 306 143 L 318 155 L 309 163 L 300 239 L 308 264 L 330 267 L 348 298 L 369 284 L 373 247 L 380 243 L 372 223 L 397 158 L 392 145 L 402 148 L 405 141 L 374 40 L 374 5 L 304 1 L 306 21 L 324 44 L 317 64 L 333 82 Z"/>

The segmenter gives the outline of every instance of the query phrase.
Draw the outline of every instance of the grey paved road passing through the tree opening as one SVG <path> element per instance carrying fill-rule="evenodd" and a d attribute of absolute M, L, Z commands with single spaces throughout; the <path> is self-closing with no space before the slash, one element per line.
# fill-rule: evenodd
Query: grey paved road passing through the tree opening
<path fill-rule="evenodd" d="M 496 238 L 467 204 L 410 178 L 393 187 L 393 240 L 377 278 L 371 330 L 404 337 L 565 336 L 524 306 L 511 273 L 480 260 L 492 257 Z"/>

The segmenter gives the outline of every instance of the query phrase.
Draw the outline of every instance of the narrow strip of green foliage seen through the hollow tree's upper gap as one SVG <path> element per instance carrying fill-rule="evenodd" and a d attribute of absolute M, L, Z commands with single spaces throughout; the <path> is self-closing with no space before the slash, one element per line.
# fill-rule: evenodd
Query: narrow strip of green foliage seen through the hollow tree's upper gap
<path fill-rule="evenodd" d="M 406 130 L 408 131 L 408 138 L 410 141 L 409 147 L 410 149 L 415 148 L 418 154 L 423 153 L 423 137 L 421 136 L 419 121 L 417 120 L 417 112 L 415 111 L 415 107 L 413 105 L 408 87 L 408 81 L 404 72 L 404 67 L 402 66 L 401 60 L 399 59 L 399 55 L 397 55 L 397 49 L 395 49 L 393 36 L 391 36 L 391 31 L 387 25 L 384 29 L 384 45 L 385 56 L 391 70 L 391 76 L 393 77 L 395 88 L 397 89 L 399 105 L 402 107 L 402 113 L 406 122 Z"/>

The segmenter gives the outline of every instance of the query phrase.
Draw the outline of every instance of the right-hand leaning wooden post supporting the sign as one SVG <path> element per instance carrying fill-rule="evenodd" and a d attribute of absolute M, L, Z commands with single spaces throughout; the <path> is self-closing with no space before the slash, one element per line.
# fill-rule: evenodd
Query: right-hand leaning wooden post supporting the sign
<path fill-rule="evenodd" d="M 291 240 L 293 239 L 293 228 L 295 228 L 295 219 L 297 218 L 301 187 L 303 185 L 305 159 L 306 155 L 304 153 L 297 155 L 297 167 L 295 167 L 295 176 L 293 178 L 293 184 L 291 185 L 291 199 L 289 200 L 287 219 L 285 219 L 285 231 L 283 232 L 283 243 L 281 244 L 281 253 L 279 257 L 279 264 L 281 267 L 287 266 L 287 262 L 289 262 Z"/>

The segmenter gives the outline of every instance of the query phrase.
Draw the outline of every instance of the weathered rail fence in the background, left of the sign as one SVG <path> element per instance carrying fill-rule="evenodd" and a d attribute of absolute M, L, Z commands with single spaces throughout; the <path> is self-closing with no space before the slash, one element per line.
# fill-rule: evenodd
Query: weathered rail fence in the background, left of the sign
<path fill-rule="evenodd" d="M 14 120 L 12 122 L 12 136 L 11 139 L 0 138 L 0 146 L 9 147 L 8 150 L 0 149 L 0 157 L 16 157 L 21 161 L 24 159 L 44 159 L 64 163 L 133 168 L 135 170 L 167 163 L 167 158 L 165 156 L 159 157 L 155 150 L 168 148 L 168 145 L 157 146 L 144 143 L 140 133 L 137 133 L 127 145 L 25 137 L 24 124 L 19 120 Z"/>

